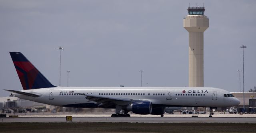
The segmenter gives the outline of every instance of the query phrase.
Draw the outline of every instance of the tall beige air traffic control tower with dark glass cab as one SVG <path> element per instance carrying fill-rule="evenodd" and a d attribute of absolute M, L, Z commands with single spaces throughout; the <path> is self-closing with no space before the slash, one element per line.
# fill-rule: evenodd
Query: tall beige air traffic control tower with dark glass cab
<path fill-rule="evenodd" d="M 188 31 L 188 86 L 204 87 L 204 31 L 209 19 L 204 16 L 204 7 L 188 7 L 188 16 L 183 27 Z"/>

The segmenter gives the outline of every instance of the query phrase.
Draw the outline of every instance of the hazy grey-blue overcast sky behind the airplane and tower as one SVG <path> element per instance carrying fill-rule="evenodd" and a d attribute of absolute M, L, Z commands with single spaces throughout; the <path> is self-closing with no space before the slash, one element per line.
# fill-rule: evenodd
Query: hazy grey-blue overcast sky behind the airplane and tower
<path fill-rule="evenodd" d="M 202 6 L 204 86 L 239 91 L 256 86 L 255 0 L 0 0 L 0 96 L 22 86 L 9 52 L 22 52 L 61 86 L 188 86 L 188 32 L 183 18 Z M 242 88 L 242 73 L 241 73 Z"/>

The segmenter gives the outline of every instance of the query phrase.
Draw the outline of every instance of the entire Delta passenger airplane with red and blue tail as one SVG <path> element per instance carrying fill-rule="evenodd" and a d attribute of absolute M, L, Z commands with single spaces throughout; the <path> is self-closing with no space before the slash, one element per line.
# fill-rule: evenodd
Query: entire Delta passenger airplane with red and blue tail
<path fill-rule="evenodd" d="M 10 52 L 23 90 L 11 95 L 62 107 L 112 108 L 112 117 L 161 115 L 166 107 L 232 107 L 240 101 L 230 92 L 212 87 L 57 87 L 52 85 L 21 52 Z"/>

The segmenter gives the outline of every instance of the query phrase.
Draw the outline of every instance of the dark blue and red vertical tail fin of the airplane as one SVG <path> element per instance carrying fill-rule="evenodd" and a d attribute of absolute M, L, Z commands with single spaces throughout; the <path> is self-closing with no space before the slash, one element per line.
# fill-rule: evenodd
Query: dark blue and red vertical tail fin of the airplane
<path fill-rule="evenodd" d="M 56 87 L 21 52 L 10 52 L 23 89 Z"/>

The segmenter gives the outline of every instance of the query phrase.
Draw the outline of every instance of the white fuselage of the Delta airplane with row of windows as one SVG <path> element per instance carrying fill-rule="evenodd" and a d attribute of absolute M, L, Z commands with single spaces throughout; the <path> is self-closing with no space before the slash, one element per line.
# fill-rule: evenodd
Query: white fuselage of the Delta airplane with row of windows
<path fill-rule="evenodd" d="M 64 107 L 98 107 L 86 99 L 88 94 L 104 97 L 129 98 L 150 101 L 165 107 L 231 107 L 240 101 L 236 97 L 224 97 L 230 92 L 212 87 L 52 87 L 22 90 L 41 95 L 31 97 L 12 93 L 15 97 Z M 183 93 L 182 93 L 183 92 Z"/>

